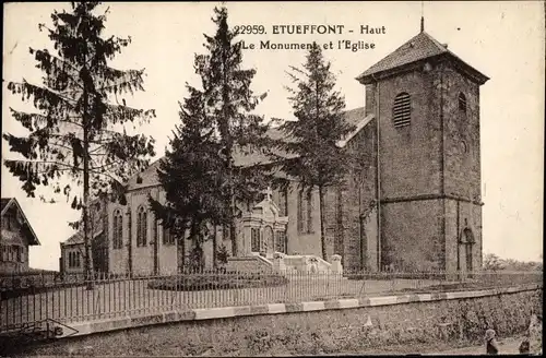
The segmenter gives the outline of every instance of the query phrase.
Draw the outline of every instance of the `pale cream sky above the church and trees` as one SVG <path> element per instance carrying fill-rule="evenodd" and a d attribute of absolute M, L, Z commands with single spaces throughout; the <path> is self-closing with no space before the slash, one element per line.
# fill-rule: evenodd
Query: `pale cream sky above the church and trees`
<path fill-rule="evenodd" d="M 154 108 L 157 118 L 141 131 L 156 140 L 163 155 L 178 119 L 178 102 L 186 83 L 199 85 L 194 53 L 203 53 L 203 34 L 212 35 L 213 2 L 104 3 L 109 7 L 105 37 L 131 36 L 132 44 L 111 65 L 145 69 L 145 92 L 128 105 Z M 425 29 L 449 45 L 464 61 L 490 80 L 480 88 L 483 247 L 485 253 L 517 260 L 539 260 L 543 252 L 544 164 L 544 4 L 539 1 L 472 2 L 227 2 L 230 26 L 262 25 L 266 34 L 240 35 L 248 47 L 260 41 L 375 44 L 372 49 L 328 49 L 337 90 L 346 108 L 363 107 L 364 86 L 355 77 L 400 45 L 417 35 L 422 11 Z M 38 23 L 51 24 L 51 12 L 68 3 L 8 3 L 3 5 L 3 80 L 38 83 L 39 70 L 28 47 L 51 44 Z M 422 9 L 423 8 L 423 9 Z M 343 34 L 274 34 L 274 25 L 342 25 Z M 360 34 L 361 26 L 381 34 Z M 337 26 L 340 28 L 341 26 Z M 280 28 L 280 27 L 277 27 Z M 349 33 L 353 31 L 353 33 Z M 286 71 L 300 65 L 305 50 L 245 49 L 244 67 L 254 68 L 252 90 L 268 92 L 257 108 L 265 118 L 293 118 L 285 86 Z M 9 107 L 28 105 L 2 87 L 2 131 L 23 134 Z M 2 159 L 10 158 L 2 141 Z M 2 198 L 15 196 L 41 246 L 31 249 L 31 266 L 58 270 L 59 242 L 73 232 L 68 222 L 79 214 L 63 201 L 45 204 L 26 198 L 21 183 L 2 165 Z M 47 193 L 46 191 L 43 191 Z M 38 191 L 38 194 L 40 191 Z"/>

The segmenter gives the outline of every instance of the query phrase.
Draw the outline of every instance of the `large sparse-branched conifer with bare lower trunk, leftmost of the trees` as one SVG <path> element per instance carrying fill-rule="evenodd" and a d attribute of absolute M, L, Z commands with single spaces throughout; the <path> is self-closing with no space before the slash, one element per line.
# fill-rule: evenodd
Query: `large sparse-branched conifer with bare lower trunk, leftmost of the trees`
<path fill-rule="evenodd" d="M 51 14 L 52 28 L 39 25 L 48 32 L 57 53 L 29 50 L 44 72 L 41 85 L 23 80 L 9 83 L 8 88 L 21 94 L 23 100 L 32 100 L 37 111 L 11 109 L 28 134 L 3 133 L 11 151 L 23 157 L 4 160 L 4 165 L 23 182 L 27 195 L 34 198 L 37 186 L 48 186 L 55 193 L 62 191 L 67 200 L 72 198 L 73 208 L 83 210 L 87 275 L 92 198 L 119 192 L 120 183 L 147 166 L 147 157 L 154 155 L 153 139 L 126 132 L 127 124 L 155 117 L 153 110 L 126 106 L 127 94 L 143 91 L 143 70 L 108 65 L 130 38 L 102 37 L 108 10 L 96 15 L 98 5 L 73 2 L 70 12 Z M 83 195 L 72 193 L 74 184 L 83 186 Z M 73 227 L 78 228 L 78 223 Z"/>

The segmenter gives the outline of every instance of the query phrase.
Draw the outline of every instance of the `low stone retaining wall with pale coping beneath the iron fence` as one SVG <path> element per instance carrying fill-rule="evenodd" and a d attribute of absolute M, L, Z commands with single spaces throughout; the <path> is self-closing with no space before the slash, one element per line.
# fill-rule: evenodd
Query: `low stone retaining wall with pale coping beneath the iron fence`
<path fill-rule="evenodd" d="M 33 353 L 83 354 L 86 346 L 104 345 L 112 356 L 157 351 L 182 356 L 316 355 L 356 354 L 364 348 L 440 341 L 482 343 L 487 327 L 496 330 L 500 338 L 524 332 L 532 312 L 542 312 L 542 287 L 534 285 L 505 290 L 199 309 L 94 325 L 82 322 L 76 326 L 79 334 L 91 333 L 86 330 L 149 326 L 61 339 Z M 162 322 L 171 324 L 154 325 Z M 146 342 L 145 348 L 142 342 Z"/>

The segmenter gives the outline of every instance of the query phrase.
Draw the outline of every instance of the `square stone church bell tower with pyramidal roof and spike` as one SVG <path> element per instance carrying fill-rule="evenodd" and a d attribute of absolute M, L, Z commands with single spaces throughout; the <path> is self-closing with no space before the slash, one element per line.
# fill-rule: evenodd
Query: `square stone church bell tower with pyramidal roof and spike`
<path fill-rule="evenodd" d="M 488 77 L 425 32 L 373 64 L 378 261 L 397 271 L 482 265 L 479 87 Z"/>

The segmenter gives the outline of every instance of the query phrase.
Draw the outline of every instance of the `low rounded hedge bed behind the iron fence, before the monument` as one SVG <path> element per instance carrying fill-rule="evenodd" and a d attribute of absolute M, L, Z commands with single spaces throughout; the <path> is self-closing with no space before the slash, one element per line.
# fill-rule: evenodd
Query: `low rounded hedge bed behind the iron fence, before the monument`
<path fill-rule="evenodd" d="M 197 291 L 283 286 L 288 279 L 275 273 L 202 273 L 162 277 L 147 284 L 151 289 Z"/>

